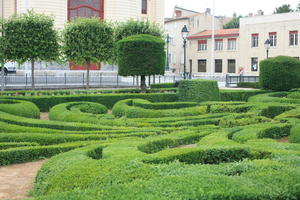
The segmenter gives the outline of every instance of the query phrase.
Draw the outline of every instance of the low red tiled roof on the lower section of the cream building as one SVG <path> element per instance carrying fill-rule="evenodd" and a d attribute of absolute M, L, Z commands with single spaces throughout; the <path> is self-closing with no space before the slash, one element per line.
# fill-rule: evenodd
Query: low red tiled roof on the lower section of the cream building
<path fill-rule="evenodd" d="M 215 37 L 237 37 L 240 29 L 220 29 L 215 30 Z M 212 30 L 205 30 L 200 33 L 193 34 L 188 39 L 211 38 Z"/>

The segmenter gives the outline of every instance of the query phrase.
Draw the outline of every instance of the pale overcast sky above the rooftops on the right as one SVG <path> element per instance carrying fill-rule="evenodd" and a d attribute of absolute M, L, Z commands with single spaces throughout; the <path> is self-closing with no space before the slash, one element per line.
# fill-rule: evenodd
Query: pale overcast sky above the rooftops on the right
<path fill-rule="evenodd" d="M 216 15 L 232 16 L 235 12 L 238 15 L 257 13 L 262 9 L 266 15 L 272 14 L 275 7 L 283 4 L 291 4 L 296 8 L 300 0 L 215 0 Z M 183 7 L 199 12 L 205 8 L 212 7 L 212 0 L 165 0 L 165 17 L 171 17 L 174 6 Z"/>

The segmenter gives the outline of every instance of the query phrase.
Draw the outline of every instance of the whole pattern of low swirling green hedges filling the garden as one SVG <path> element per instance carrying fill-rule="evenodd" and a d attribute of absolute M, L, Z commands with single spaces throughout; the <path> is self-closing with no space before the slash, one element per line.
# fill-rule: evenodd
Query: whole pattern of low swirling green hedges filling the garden
<path fill-rule="evenodd" d="M 299 90 L 210 92 L 2 96 L 0 165 L 50 158 L 43 200 L 300 199 Z"/>

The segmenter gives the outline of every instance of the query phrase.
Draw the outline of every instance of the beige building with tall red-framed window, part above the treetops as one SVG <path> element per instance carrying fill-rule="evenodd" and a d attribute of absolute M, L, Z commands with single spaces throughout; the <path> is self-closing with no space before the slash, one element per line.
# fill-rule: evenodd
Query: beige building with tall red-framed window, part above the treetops
<path fill-rule="evenodd" d="M 98 16 L 110 21 L 128 19 L 143 20 L 163 24 L 164 0 L 0 0 L 4 3 L 4 16 L 34 10 L 52 15 L 57 28 L 76 16 Z M 2 3 L 0 3 L 0 6 Z M 2 16 L 2 8 L 0 9 Z"/>

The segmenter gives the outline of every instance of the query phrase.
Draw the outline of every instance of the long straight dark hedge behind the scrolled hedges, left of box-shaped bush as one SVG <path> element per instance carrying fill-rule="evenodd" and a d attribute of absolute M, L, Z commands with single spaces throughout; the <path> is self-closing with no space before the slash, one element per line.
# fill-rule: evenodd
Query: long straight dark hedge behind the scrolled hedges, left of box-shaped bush
<path fill-rule="evenodd" d="M 87 94 L 87 95 L 67 95 L 67 96 L 32 96 L 32 97 L 10 97 L 20 100 L 31 101 L 36 104 L 41 112 L 48 112 L 51 107 L 67 102 L 88 101 L 105 105 L 112 108 L 114 104 L 123 99 L 146 99 L 152 102 L 172 102 L 177 101 L 176 94 Z"/>

